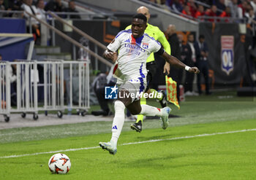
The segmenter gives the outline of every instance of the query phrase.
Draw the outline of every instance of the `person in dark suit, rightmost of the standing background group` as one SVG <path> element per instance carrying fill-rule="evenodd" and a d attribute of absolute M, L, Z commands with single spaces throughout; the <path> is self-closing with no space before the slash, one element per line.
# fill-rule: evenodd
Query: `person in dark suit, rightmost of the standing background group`
<path fill-rule="evenodd" d="M 195 49 L 197 53 L 196 65 L 198 69 L 203 73 L 206 84 L 206 95 L 210 95 L 209 91 L 209 76 L 208 76 L 208 46 L 205 42 L 205 36 L 202 34 L 199 36 L 199 41 L 195 42 Z M 202 94 L 201 90 L 201 74 L 197 74 L 197 90 L 199 94 Z"/>

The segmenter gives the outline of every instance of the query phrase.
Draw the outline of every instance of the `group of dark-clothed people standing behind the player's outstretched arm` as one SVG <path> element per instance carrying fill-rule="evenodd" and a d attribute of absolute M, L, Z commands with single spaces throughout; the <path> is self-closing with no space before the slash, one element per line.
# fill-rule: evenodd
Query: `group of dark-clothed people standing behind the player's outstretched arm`
<path fill-rule="evenodd" d="M 189 34 L 187 42 L 184 41 L 183 34 L 176 33 L 176 26 L 169 25 L 165 31 L 165 36 L 168 39 L 171 47 L 171 55 L 175 56 L 181 62 L 187 64 L 187 66 L 197 66 L 201 71 L 197 74 L 197 90 L 193 88 L 193 82 L 195 74 L 187 73 L 184 74 L 183 69 L 170 68 L 169 76 L 177 82 L 177 87 L 184 85 L 184 95 L 200 95 L 203 91 L 206 95 L 210 95 L 210 85 L 208 76 L 208 44 L 205 42 L 205 36 L 200 34 L 199 38 L 196 39 L 194 34 Z M 204 88 L 202 89 L 202 77 L 204 80 Z M 196 93 L 197 91 L 197 93 Z M 177 88 L 177 98 L 180 100 L 181 92 L 180 88 Z"/>

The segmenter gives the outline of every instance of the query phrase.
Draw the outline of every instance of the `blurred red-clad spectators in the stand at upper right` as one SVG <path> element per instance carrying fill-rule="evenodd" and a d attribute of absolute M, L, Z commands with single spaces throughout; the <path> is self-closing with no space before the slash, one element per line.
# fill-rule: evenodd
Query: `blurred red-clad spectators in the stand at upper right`
<path fill-rule="evenodd" d="M 149 0 L 160 4 L 164 9 L 171 9 L 181 16 L 213 22 L 209 17 L 233 17 L 236 19 L 255 19 L 256 0 Z M 225 22 L 228 19 L 225 18 Z"/>

